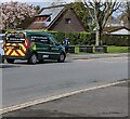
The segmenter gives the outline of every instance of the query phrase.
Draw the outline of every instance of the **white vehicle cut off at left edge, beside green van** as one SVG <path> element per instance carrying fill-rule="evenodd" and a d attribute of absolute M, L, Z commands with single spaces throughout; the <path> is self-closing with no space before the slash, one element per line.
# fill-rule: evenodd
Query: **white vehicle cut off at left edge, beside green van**
<path fill-rule="evenodd" d="M 0 63 L 4 62 L 3 39 L 4 39 L 4 34 L 0 34 Z"/>

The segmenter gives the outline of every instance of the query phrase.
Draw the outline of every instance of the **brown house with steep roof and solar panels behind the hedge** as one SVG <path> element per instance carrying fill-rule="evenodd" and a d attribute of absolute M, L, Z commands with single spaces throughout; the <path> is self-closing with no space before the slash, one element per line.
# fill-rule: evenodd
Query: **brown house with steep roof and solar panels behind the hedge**
<path fill-rule="evenodd" d="M 27 29 L 66 32 L 86 31 L 84 26 L 68 4 L 43 8 Z"/>

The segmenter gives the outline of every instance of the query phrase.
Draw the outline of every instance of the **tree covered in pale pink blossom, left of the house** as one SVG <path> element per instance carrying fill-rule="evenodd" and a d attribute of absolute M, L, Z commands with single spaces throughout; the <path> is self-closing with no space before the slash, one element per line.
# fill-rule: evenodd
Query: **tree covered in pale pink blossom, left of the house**
<path fill-rule="evenodd" d="M 20 2 L 5 2 L 0 4 L 0 24 L 3 28 L 16 28 L 26 17 L 32 17 L 38 8 Z"/>

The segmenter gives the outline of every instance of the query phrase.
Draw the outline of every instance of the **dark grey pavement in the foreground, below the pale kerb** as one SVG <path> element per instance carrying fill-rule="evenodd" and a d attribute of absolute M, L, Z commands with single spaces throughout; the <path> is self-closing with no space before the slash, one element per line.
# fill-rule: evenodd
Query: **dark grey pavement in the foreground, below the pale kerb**
<path fill-rule="evenodd" d="M 130 80 L 113 87 L 87 91 L 8 113 L 3 115 L 3 119 L 9 117 L 77 117 L 77 119 L 78 117 L 86 117 L 86 119 L 109 117 L 108 119 L 129 119 L 129 88 Z"/>

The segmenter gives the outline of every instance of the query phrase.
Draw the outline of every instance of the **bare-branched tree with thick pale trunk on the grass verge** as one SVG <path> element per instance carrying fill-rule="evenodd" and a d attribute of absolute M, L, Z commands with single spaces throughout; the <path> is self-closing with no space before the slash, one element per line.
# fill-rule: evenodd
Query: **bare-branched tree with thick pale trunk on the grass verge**
<path fill-rule="evenodd" d="M 95 45 L 102 45 L 103 29 L 112 14 L 119 9 L 120 2 L 117 0 L 105 0 L 104 2 L 102 0 L 83 0 L 83 3 L 89 8 L 89 14 L 95 23 Z"/>

